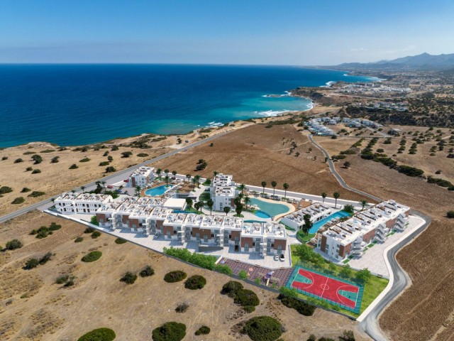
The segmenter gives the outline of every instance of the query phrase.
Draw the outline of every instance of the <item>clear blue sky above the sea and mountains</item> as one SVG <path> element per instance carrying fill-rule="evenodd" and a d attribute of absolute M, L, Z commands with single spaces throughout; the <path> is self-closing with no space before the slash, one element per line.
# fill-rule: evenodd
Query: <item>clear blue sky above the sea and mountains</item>
<path fill-rule="evenodd" d="M 0 63 L 364 63 L 454 53 L 453 18 L 453 0 L 3 0 Z"/>

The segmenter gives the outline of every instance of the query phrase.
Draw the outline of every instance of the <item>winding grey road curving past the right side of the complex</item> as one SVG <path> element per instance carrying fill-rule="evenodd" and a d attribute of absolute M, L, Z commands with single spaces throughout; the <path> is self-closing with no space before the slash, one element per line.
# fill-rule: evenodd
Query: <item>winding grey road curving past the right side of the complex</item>
<path fill-rule="evenodd" d="M 338 180 L 338 182 L 341 184 L 343 188 L 347 190 L 352 190 L 353 192 L 361 195 L 365 195 L 366 197 L 370 197 L 371 199 L 377 200 L 378 202 L 382 201 L 379 197 L 375 197 L 374 195 L 362 192 L 362 190 L 351 188 L 349 185 L 347 185 L 347 183 L 345 183 L 341 175 L 336 171 L 334 163 L 333 161 L 331 161 L 328 152 L 322 146 L 317 144 L 311 135 L 309 135 L 308 137 L 311 143 L 314 144 L 314 146 L 316 146 L 316 148 L 318 148 L 323 153 L 323 155 L 326 156 L 326 158 L 328 158 L 328 166 L 330 168 L 330 171 L 331 173 L 333 173 L 333 175 L 336 177 L 336 180 Z M 409 276 L 402 269 L 399 263 L 397 263 L 396 260 L 397 251 L 399 251 L 399 249 L 402 249 L 402 247 L 408 244 L 411 241 L 411 239 L 416 238 L 416 236 L 423 232 L 423 230 L 426 229 L 426 227 L 428 227 L 428 225 L 431 224 L 432 221 L 431 217 L 429 217 L 428 215 L 424 215 L 421 212 L 415 210 L 411 210 L 410 212 L 411 215 L 417 215 L 421 217 L 423 220 L 426 220 L 426 222 L 421 227 L 416 229 L 414 232 L 411 232 L 411 234 L 409 234 L 404 239 L 399 241 L 398 244 L 392 247 L 392 249 L 389 249 L 389 251 L 387 252 L 387 259 L 389 261 L 389 266 L 391 267 L 390 271 L 392 273 L 392 276 L 394 277 L 391 289 L 386 293 L 386 295 L 384 295 L 382 300 L 380 300 L 380 302 L 378 302 L 377 305 L 375 305 L 375 307 L 372 308 L 370 313 L 358 325 L 360 329 L 363 330 L 367 335 L 372 337 L 373 340 L 377 341 L 387 340 L 387 337 L 383 335 L 382 330 L 380 329 L 380 325 L 378 325 L 379 315 L 380 313 L 382 313 L 382 310 L 384 310 L 384 308 L 389 303 L 391 303 L 394 300 L 394 298 L 396 298 L 399 295 L 399 293 L 402 293 L 402 291 L 404 291 L 404 289 L 410 282 Z"/>

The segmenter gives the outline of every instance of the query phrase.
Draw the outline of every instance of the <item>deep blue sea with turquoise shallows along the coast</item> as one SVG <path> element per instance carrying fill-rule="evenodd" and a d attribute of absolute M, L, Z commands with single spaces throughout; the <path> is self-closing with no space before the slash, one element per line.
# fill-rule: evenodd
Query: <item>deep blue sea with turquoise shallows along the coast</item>
<path fill-rule="evenodd" d="M 309 100 L 286 91 L 341 80 L 372 79 L 284 66 L 0 65 L 0 146 L 182 134 L 309 109 Z"/>

